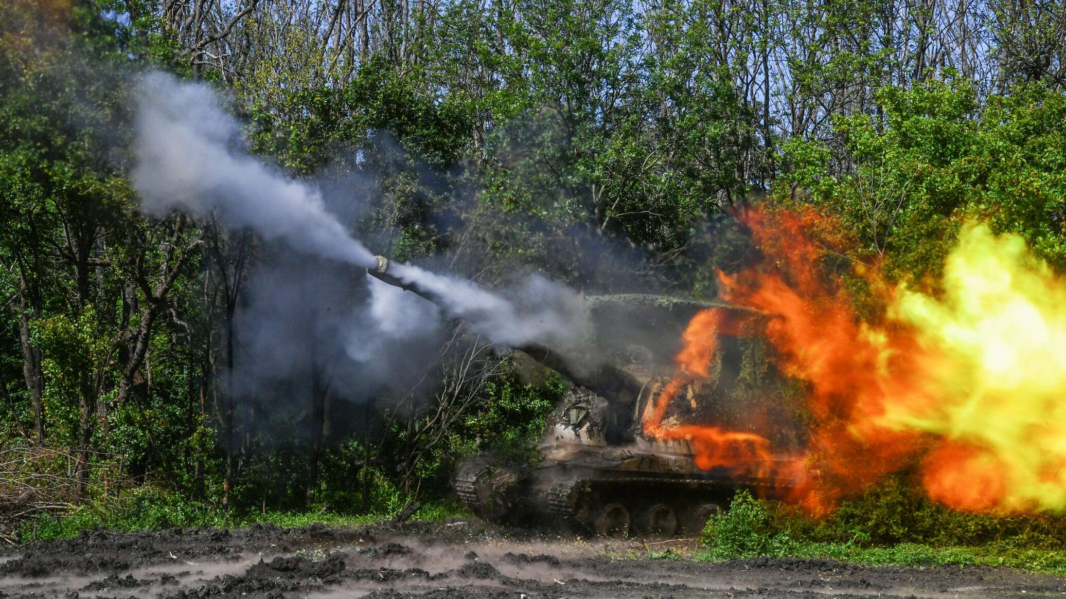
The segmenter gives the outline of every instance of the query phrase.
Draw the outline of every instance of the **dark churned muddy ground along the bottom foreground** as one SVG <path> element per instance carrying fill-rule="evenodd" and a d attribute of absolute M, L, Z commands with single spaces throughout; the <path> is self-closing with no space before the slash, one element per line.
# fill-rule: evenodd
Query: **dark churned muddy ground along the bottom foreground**
<path fill-rule="evenodd" d="M 823 560 L 648 560 L 685 541 L 500 531 L 480 522 L 401 529 L 190 529 L 0 553 L 0 598 L 399 599 L 422 597 L 1001 597 L 1066 595 L 1066 579 L 1005 568 L 865 567 Z"/>

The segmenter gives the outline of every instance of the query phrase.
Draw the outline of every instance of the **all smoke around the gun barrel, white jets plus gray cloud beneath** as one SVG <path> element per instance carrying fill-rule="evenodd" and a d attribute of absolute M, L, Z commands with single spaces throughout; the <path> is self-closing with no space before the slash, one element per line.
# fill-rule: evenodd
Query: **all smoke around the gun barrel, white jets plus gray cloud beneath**
<path fill-rule="evenodd" d="M 417 355 L 410 344 L 424 344 L 437 330 L 438 308 L 413 293 L 373 277 L 367 277 L 365 293 L 342 289 L 340 279 L 352 279 L 351 266 L 335 269 L 328 262 L 376 264 L 332 210 L 345 212 L 353 199 L 336 192 L 326 197 L 319 184 L 286 177 L 248 153 L 240 125 L 206 85 L 146 76 L 133 147 L 133 183 L 146 214 L 216 214 L 226 226 L 251 228 L 266 242 L 303 255 L 281 252 L 274 258 L 277 264 L 260 265 L 249 289 L 253 298 L 242 317 L 249 385 L 255 377 L 294 376 L 293 369 L 309 368 L 303 362 L 311 350 L 318 361 L 328 356 L 334 363 L 391 368 L 390 360 Z M 495 343 L 574 347 L 585 330 L 584 302 L 540 276 L 518 279 L 497 294 L 414 265 L 395 264 L 390 273 L 431 291 L 449 317 L 463 319 Z M 308 335 L 309 322 L 313 335 Z"/>

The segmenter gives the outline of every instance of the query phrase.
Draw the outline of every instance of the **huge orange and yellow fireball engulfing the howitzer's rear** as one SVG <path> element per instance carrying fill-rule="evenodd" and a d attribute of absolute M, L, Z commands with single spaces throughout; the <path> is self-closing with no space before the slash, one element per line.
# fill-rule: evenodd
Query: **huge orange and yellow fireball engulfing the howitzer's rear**
<path fill-rule="evenodd" d="M 858 264 L 854 272 L 866 278 L 875 300 L 888 309 L 885 315 L 871 319 L 860 315 L 841 279 L 827 276 L 820 268 L 827 256 L 836 254 L 833 247 L 849 245 L 850 240 L 840 233 L 846 229 L 839 223 L 809 208 L 795 212 L 755 210 L 741 220 L 750 227 L 764 259 L 736 274 L 720 272 L 718 278 L 723 296 L 759 313 L 761 328 L 755 330 L 750 323 L 738 325 L 730 310 L 696 314 L 676 357 L 677 374 L 656 398 L 645 419 L 645 434 L 663 440 L 689 440 L 700 468 L 758 473 L 775 483 L 791 479 L 791 486 L 779 486 L 779 495 L 813 514 L 824 514 L 842 498 L 911 466 L 920 468 L 931 499 L 956 509 L 1021 512 L 1066 506 L 1066 446 L 1053 431 L 1056 418 L 1066 421 L 1066 405 L 1059 408 L 1060 403 L 1048 399 L 1057 396 L 1048 390 L 1052 385 L 1030 383 L 1034 389 L 1025 391 L 1032 395 L 1030 406 L 1047 410 L 1051 420 L 1041 422 L 1036 415 L 1019 419 L 1017 425 L 1011 423 L 1003 427 L 1015 435 L 1008 443 L 1002 431 L 984 431 L 980 424 L 987 418 L 974 420 L 971 408 L 975 401 L 984 400 L 1010 416 L 1012 404 L 1007 400 L 1019 387 L 1012 378 L 1004 385 L 1015 387 L 1002 387 L 1005 391 L 1000 387 L 974 390 L 970 373 L 983 365 L 975 361 L 973 352 L 958 349 L 969 347 L 966 340 L 972 337 L 963 336 L 963 342 L 950 337 L 957 337 L 960 328 L 978 335 L 994 327 L 1004 339 L 990 343 L 979 358 L 1012 355 L 1007 352 L 1014 349 L 1010 342 L 1015 340 L 1002 333 L 1002 322 L 1010 322 L 1010 318 L 982 322 L 986 328 L 967 326 L 965 321 L 958 324 L 957 319 L 973 304 L 966 293 L 999 302 L 991 308 L 980 304 L 982 314 L 991 311 L 999 317 L 996 310 L 1006 306 L 1049 327 L 1066 323 L 1066 314 L 1060 318 L 1052 306 L 1059 305 L 1055 298 L 1060 295 L 1066 298 L 1066 280 L 1055 278 L 1046 268 L 1029 264 L 1024 249 L 1018 248 L 1020 240 L 997 239 L 986 231 L 960 242 L 956 262 L 962 265 L 956 264 L 953 285 L 960 289 L 957 295 L 962 300 L 955 302 L 962 307 L 951 304 L 950 298 L 933 300 L 905 287 L 891 287 L 876 266 Z M 1000 258 L 1003 254 L 1008 255 L 1006 259 Z M 974 256 L 1000 261 L 982 262 Z M 996 271 L 989 277 L 991 282 L 973 276 L 995 268 L 1007 274 Z M 1000 293 L 1004 280 L 1013 281 L 1007 285 L 1016 288 L 1002 292 L 1007 294 L 1005 298 L 995 295 L 988 300 L 986 290 Z M 936 310 L 947 312 L 947 317 Z M 1012 313 L 1005 308 L 1001 312 Z M 932 322 L 937 317 L 942 322 Z M 779 369 L 807 384 L 811 419 L 804 455 L 775 451 L 766 437 L 755 433 L 664 422 L 668 405 L 680 390 L 710 376 L 718 335 L 738 334 L 763 335 L 775 350 Z M 1039 333 L 1048 343 L 1059 339 L 1053 334 L 1057 331 Z M 1062 335 L 1066 338 L 1066 325 Z M 997 372 L 982 374 L 1002 378 Z M 1023 458 L 1018 458 L 1015 453 L 1025 441 L 1019 438 L 1022 435 L 1035 441 L 1023 451 Z M 805 475 L 812 473 L 817 476 Z"/>

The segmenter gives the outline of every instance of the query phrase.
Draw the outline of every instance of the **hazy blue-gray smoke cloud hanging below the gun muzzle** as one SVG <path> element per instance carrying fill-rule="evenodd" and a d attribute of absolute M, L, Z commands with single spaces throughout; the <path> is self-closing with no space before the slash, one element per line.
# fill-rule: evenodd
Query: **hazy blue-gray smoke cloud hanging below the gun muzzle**
<path fill-rule="evenodd" d="M 437 307 L 377 279 L 353 277 L 345 263 L 277 252 L 249 274 L 238 314 L 233 373 L 248 398 L 291 402 L 318 373 L 349 400 L 379 386 L 404 389 L 440 343 Z M 297 387 L 292 389 L 295 383 Z"/>

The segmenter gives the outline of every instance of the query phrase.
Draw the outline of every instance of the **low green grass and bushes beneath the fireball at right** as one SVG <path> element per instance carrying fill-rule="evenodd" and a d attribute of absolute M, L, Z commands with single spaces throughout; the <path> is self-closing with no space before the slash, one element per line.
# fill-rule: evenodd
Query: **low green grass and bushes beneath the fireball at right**
<path fill-rule="evenodd" d="M 825 557 L 871 565 L 1013 566 L 1066 572 L 1066 519 L 952 512 L 904 475 L 844 500 L 818 521 L 795 507 L 738 491 L 704 530 L 700 560 Z"/>

